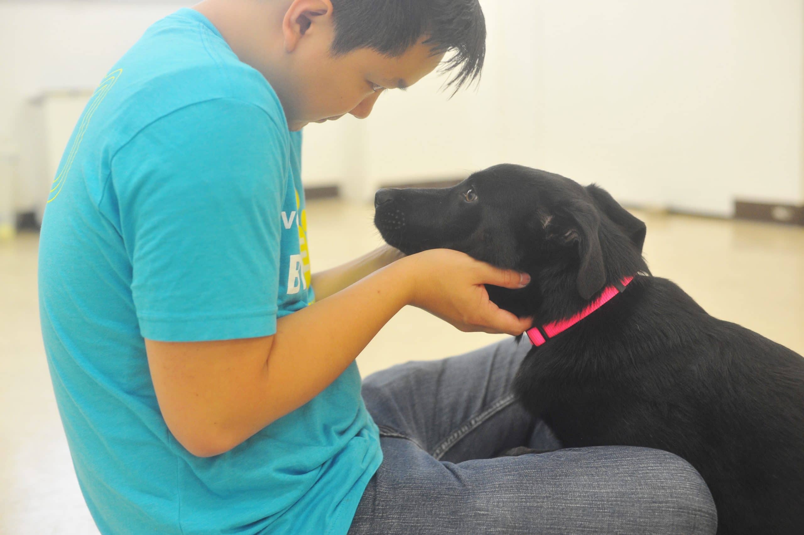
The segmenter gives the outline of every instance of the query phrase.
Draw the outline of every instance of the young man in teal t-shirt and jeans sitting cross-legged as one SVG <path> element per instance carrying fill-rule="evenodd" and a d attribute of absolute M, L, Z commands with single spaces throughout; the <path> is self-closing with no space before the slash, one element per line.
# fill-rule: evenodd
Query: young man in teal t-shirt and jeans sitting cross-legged
<path fill-rule="evenodd" d="M 524 345 L 391 368 L 361 396 L 355 356 L 401 307 L 517 335 L 530 323 L 482 285 L 527 278 L 389 248 L 311 277 L 298 130 L 367 117 L 446 52 L 453 82 L 472 80 L 484 39 L 477 0 L 207 0 L 112 68 L 39 256 L 51 377 L 102 533 L 714 532 L 705 485 L 670 454 L 490 459 L 558 446 L 513 403 Z"/>

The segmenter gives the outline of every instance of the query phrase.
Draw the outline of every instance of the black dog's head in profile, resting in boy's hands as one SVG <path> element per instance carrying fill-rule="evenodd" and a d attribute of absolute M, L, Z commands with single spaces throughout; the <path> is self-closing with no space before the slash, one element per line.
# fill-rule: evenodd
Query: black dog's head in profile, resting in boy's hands
<path fill-rule="evenodd" d="M 600 187 L 529 167 L 490 167 L 454 187 L 382 189 L 375 208 L 375 226 L 403 253 L 455 249 L 531 274 L 525 290 L 489 288 L 519 315 L 572 314 L 605 286 L 647 271 L 641 220 Z"/>

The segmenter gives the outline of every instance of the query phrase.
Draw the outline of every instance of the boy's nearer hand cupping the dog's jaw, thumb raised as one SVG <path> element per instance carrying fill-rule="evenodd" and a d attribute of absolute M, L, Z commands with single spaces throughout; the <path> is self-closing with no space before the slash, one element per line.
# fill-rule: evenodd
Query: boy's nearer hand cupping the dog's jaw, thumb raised
<path fill-rule="evenodd" d="M 411 274 L 410 304 L 445 320 L 464 332 L 521 335 L 531 318 L 518 318 L 489 299 L 484 284 L 517 290 L 530 276 L 500 270 L 451 249 L 430 249 L 402 258 Z"/>

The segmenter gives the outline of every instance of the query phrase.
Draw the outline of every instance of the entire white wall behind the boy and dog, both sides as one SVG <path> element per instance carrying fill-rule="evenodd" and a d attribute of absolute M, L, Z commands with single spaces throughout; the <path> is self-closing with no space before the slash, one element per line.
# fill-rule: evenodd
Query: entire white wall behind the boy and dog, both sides
<path fill-rule="evenodd" d="M 308 183 L 380 183 L 523 163 L 631 204 L 728 215 L 804 203 L 801 0 L 481 0 L 481 84 L 431 76 L 367 121 L 306 129 Z M 154 20 L 191 2 L 0 2 L 0 138 L 20 102 L 92 88 Z"/>

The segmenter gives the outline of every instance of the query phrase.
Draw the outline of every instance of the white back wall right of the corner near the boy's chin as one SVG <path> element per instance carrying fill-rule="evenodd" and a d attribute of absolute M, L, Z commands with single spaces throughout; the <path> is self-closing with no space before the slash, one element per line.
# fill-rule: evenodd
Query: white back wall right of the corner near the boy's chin
<path fill-rule="evenodd" d="M 478 93 L 445 104 L 425 82 L 383 97 L 368 127 L 377 181 L 508 161 L 632 204 L 804 202 L 801 0 L 482 5 Z"/>

